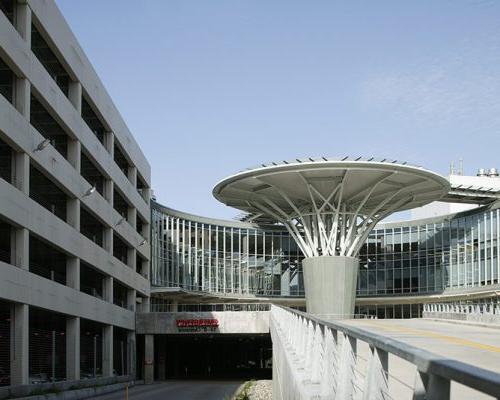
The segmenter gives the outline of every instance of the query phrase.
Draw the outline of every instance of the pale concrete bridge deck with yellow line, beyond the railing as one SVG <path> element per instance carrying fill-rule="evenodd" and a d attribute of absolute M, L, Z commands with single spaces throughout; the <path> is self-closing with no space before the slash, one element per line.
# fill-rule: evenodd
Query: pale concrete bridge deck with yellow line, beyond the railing
<path fill-rule="evenodd" d="M 348 325 L 367 329 L 373 333 L 390 337 L 404 343 L 425 349 L 443 358 L 458 360 L 480 368 L 500 373 L 500 330 L 451 324 L 445 321 L 426 319 L 385 319 L 342 321 Z M 361 346 L 361 357 L 367 348 Z M 416 369 L 410 363 L 397 357 L 389 357 L 389 384 L 399 390 L 393 392 L 395 398 L 407 398 L 415 382 Z M 392 382 L 391 382 L 392 380 Z M 451 386 L 452 399 L 489 399 L 457 383 Z"/>

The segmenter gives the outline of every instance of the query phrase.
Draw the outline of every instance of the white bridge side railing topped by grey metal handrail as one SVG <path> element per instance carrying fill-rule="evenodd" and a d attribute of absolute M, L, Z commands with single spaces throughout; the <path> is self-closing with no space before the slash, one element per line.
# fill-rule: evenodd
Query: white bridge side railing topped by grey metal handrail
<path fill-rule="evenodd" d="M 446 400 L 452 381 L 500 398 L 500 374 L 341 321 L 272 306 L 271 336 L 275 400 Z M 414 367 L 410 382 L 389 368 L 389 355 Z"/>

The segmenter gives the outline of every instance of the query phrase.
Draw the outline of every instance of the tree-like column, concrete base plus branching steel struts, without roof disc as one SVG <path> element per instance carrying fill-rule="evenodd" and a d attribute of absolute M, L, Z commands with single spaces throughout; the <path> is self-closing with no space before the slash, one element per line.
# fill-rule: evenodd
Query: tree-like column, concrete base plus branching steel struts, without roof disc
<path fill-rule="evenodd" d="M 391 172 L 361 193 L 346 198 L 344 186 L 348 174 L 349 171 L 346 171 L 327 196 L 315 187 L 314 180 L 309 181 L 300 175 L 310 200 L 310 204 L 302 206 L 296 204 L 282 189 L 274 187 L 274 193 L 282 196 L 290 206 L 291 213 L 265 194 L 257 194 L 258 200 L 248 202 L 250 206 L 281 222 L 306 256 L 303 273 L 307 310 L 323 318 L 352 316 L 359 268 L 357 255 L 361 246 L 380 220 L 414 201 L 415 195 L 408 194 L 389 207 L 385 206 L 411 186 L 422 183 L 421 179 L 416 179 L 404 186 L 393 185 L 393 190 L 374 196 L 376 188 L 395 174 Z M 373 200 L 372 197 L 375 197 L 378 205 L 369 214 L 363 213 L 363 207 Z M 321 279 L 315 279 L 318 276 Z"/>

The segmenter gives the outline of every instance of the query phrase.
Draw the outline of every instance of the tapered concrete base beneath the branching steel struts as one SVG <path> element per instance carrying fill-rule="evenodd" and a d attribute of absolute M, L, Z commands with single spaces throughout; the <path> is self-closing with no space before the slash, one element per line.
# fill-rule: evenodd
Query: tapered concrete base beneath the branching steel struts
<path fill-rule="evenodd" d="M 359 260 L 320 256 L 302 261 L 307 312 L 328 319 L 352 318 Z"/>

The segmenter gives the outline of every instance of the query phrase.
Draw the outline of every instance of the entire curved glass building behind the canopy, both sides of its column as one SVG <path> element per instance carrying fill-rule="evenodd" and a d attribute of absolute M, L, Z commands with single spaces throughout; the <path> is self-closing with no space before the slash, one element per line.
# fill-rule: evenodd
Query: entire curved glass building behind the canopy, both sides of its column
<path fill-rule="evenodd" d="M 281 226 L 199 217 L 155 202 L 151 226 L 153 307 L 174 293 L 303 306 L 304 256 Z M 500 203 L 377 225 L 360 251 L 356 312 L 409 317 L 435 298 L 494 299 L 499 227 Z"/>

